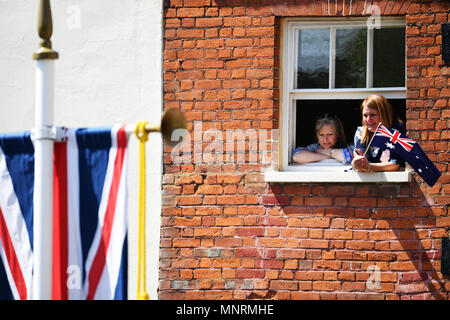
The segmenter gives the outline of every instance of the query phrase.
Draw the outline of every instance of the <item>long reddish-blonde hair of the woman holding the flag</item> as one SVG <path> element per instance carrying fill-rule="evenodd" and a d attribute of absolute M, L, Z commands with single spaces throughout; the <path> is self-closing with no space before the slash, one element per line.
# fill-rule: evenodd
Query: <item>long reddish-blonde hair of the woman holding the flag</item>
<path fill-rule="evenodd" d="M 398 120 L 394 113 L 392 112 L 392 107 L 389 101 L 382 96 L 378 94 L 372 94 L 368 96 L 363 103 L 361 104 L 361 118 L 362 118 L 362 112 L 364 107 L 368 107 L 370 109 L 374 109 L 378 111 L 378 115 L 380 117 L 380 121 L 385 125 L 386 127 L 392 127 L 392 124 L 394 121 Z M 364 120 L 362 119 L 362 133 L 361 133 L 361 143 L 368 144 L 371 138 L 372 133 L 369 132 L 367 127 L 364 125 Z"/>

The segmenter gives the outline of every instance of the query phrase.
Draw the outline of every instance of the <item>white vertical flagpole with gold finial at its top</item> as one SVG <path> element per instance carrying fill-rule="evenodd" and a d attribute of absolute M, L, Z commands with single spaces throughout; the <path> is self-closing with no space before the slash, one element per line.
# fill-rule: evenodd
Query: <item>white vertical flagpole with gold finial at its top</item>
<path fill-rule="evenodd" d="M 53 224 L 53 104 L 54 63 L 58 53 L 52 50 L 53 33 L 50 0 L 40 0 L 38 33 L 40 47 L 36 60 L 33 285 L 32 299 L 52 297 L 52 224 Z"/>

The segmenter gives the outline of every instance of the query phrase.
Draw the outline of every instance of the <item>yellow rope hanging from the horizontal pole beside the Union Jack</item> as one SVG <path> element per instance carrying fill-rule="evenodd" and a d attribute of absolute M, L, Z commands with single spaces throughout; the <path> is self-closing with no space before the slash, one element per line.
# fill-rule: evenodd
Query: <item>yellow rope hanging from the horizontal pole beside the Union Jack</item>
<path fill-rule="evenodd" d="M 148 300 L 145 289 L 145 142 L 148 132 L 145 131 L 147 121 L 140 121 L 134 133 L 139 139 L 139 219 L 138 219 L 138 272 L 137 272 L 137 300 Z"/>

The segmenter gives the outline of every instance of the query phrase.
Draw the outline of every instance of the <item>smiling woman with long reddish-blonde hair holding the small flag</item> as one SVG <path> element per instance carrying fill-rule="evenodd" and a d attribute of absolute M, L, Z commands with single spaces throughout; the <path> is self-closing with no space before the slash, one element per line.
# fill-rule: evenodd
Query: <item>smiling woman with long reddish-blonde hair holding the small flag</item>
<path fill-rule="evenodd" d="M 354 138 L 354 156 L 352 166 L 356 171 L 397 171 L 405 166 L 405 162 L 389 150 L 384 152 L 377 147 L 369 146 L 369 150 L 364 155 L 367 145 L 372 139 L 378 124 L 394 128 L 405 134 L 406 129 L 392 112 L 389 101 L 382 95 L 370 95 L 361 104 L 362 126 L 356 129 Z"/>

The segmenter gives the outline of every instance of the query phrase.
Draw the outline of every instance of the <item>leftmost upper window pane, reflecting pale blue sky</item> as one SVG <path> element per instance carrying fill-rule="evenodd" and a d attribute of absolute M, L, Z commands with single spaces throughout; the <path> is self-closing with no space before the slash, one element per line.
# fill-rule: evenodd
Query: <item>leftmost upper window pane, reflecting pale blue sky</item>
<path fill-rule="evenodd" d="M 307 29 L 298 33 L 297 88 L 328 88 L 330 30 Z"/>

